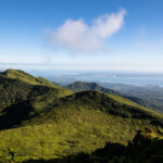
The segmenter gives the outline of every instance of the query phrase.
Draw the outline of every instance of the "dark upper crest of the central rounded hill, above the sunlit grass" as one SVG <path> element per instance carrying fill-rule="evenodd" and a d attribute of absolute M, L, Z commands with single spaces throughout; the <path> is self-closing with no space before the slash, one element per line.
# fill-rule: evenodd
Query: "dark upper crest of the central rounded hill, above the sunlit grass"
<path fill-rule="evenodd" d="M 38 115 L 35 122 L 45 123 L 57 121 L 58 111 L 62 110 L 97 110 L 104 113 L 121 116 L 123 118 L 149 120 L 151 124 L 163 125 L 163 115 L 145 109 L 137 103 L 113 95 L 100 91 L 82 91 L 59 99 L 53 105 Z M 68 116 L 68 115 L 67 115 Z M 33 121 L 33 120 L 29 120 Z"/>

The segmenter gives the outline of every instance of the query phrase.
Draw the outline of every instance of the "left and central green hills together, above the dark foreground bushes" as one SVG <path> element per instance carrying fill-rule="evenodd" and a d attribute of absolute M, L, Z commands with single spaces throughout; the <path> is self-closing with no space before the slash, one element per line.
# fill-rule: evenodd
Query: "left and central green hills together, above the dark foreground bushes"
<path fill-rule="evenodd" d="M 0 74 L 0 99 L 2 163 L 59 160 L 80 152 L 87 155 L 106 142 L 127 146 L 143 126 L 156 137 L 163 136 L 163 114 L 112 90 L 73 93 L 10 70 Z"/>

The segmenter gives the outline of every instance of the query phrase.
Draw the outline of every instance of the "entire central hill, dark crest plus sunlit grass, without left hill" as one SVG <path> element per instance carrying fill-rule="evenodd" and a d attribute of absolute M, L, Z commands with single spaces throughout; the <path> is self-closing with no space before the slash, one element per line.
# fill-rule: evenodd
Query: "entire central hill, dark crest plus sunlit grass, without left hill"
<path fill-rule="evenodd" d="M 101 103 L 102 99 L 114 105 L 108 108 L 106 103 Z M 125 99 L 116 102 L 97 91 L 62 98 L 52 110 L 24 122 L 24 127 L 0 131 L 1 160 L 49 160 L 80 151 L 91 152 L 103 148 L 106 141 L 126 145 L 142 126 L 163 133 L 161 126 L 151 124 L 160 117 L 126 102 Z M 99 109 L 101 104 L 104 110 Z M 136 110 L 139 112 L 135 117 Z"/>

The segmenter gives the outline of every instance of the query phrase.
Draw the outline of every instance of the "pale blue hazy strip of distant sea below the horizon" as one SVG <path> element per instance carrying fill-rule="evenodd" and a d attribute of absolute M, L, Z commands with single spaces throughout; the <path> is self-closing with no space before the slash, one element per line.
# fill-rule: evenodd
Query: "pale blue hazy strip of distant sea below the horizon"
<path fill-rule="evenodd" d="M 83 71 L 26 71 L 51 82 L 67 85 L 76 80 L 97 83 L 118 83 L 128 85 L 155 85 L 163 87 L 163 73 L 130 72 L 83 72 Z"/>

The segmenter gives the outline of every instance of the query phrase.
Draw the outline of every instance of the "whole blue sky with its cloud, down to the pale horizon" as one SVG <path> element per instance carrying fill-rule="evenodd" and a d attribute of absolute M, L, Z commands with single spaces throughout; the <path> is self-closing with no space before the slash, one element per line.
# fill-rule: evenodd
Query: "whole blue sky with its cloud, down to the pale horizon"
<path fill-rule="evenodd" d="M 163 72 L 163 1 L 1 0 L 0 64 Z"/>

